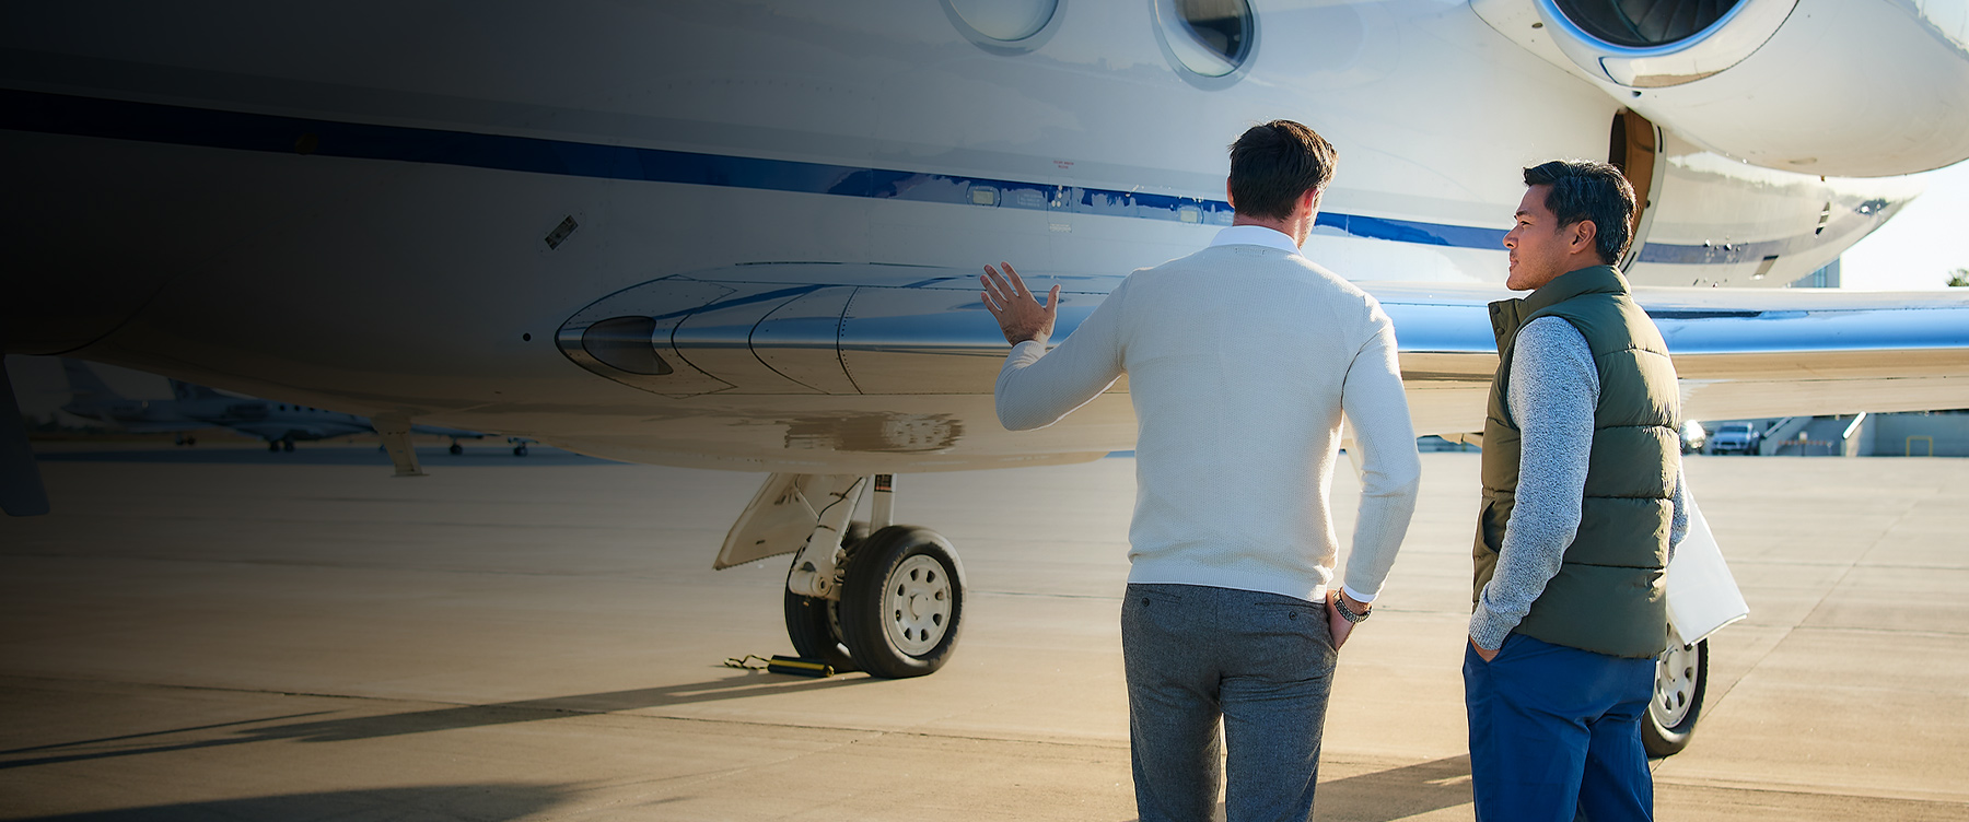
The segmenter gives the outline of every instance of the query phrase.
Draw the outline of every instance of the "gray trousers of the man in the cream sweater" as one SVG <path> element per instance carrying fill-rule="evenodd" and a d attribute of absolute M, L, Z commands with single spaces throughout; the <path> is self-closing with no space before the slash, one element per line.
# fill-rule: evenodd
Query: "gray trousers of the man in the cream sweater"
<path fill-rule="evenodd" d="M 1313 816 L 1333 686 L 1325 604 L 1130 584 L 1120 645 L 1142 822 L 1209 820 L 1225 771 L 1229 822 Z"/>

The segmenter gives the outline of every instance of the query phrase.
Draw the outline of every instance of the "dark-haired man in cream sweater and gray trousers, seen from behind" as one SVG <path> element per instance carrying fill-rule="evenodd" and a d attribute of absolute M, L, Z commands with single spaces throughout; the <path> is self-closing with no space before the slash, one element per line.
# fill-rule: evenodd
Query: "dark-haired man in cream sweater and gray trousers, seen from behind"
<path fill-rule="evenodd" d="M 1051 425 L 1128 374 L 1138 421 L 1122 657 L 1140 818 L 1305 820 L 1333 659 L 1368 616 L 1422 464 L 1374 297 L 1300 256 L 1333 146 L 1274 120 L 1231 146 L 1237 218 L 1209 248 L 1128 275 L 1051 352 L 1012 265 L 984 305 L 1012 354 L 998 419 Z M 1363 456 L 1343 584 L 1327 509 L 1341 419 Z M 1219 722 L 1223 747 L 1219 747 Z"/>

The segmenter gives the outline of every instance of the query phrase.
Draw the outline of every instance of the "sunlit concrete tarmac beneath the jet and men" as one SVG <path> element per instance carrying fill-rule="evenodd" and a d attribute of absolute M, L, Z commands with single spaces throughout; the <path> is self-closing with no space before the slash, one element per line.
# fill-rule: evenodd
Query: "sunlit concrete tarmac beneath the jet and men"
<path fill-rule="evenodd" d="M 963 557 L 963 645 L 813 680 L 723 667 L 790 653 L 786 560 L 711 570 L 756 474 L 215 452 L 57 456 L 55 513 L 0 521 L 0 818 L 1134 818 L 1128 458 L 898 478 L 898 519 Z M 1752 616 L 1711 641 L 1660 818 L 1969 818 L 1969 460 L 1687 476 Z M 1475 511 L 1477 454 L 1424 454 L 1317 818 L 1471 818 Z"/>

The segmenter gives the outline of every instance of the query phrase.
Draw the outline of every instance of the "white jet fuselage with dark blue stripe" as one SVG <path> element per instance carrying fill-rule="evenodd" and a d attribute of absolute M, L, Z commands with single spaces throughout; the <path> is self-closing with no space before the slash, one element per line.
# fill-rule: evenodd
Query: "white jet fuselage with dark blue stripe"
<path fill-rule="evenodd" d="M 1105 397 L 1073 431 L 986 437 L 988 382 L 660 395 L 575 368 L 557 328 L 632 285 L 748 264 L 1114 277 L 1229 222 L 1225 147 L 1270 118 L 1339 147 L 1309 258 L 1500 283 L 1520 169 L 1605 159 L 1622 110 L 1431 0 L 1258 2 L 1246 67 L 1215 83 L 1172 67 L 1154 4 L 1059 4 L 1024 51 L 977 45 L 935 2 L 26 18 L 0 33 L 0 79 L 67 114 L 0 132 L 32 193 L 0 205 L 8 285 L 47 307 L 10 350 L 729 468 L 1055 460 L 1128 446 L 1132 419 Z M 1914 195 L 1658 136 L 1628 269 L 1644 285 L 1788 283 Z M 937 425 L 939 448 L 845 446 Z"/>

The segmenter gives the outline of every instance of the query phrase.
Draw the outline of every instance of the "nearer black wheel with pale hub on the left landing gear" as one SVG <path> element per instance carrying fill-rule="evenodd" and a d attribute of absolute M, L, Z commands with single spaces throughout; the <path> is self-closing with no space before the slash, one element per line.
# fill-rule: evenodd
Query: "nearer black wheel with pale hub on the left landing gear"
<path fill-rule="evenodd" d="M 874 676 L 935 673 L 951 659 L 965 616 L 965 568 L 943 535 L 890 525 L 847 562 L 841 639 Z"/>

